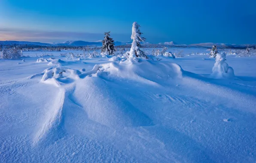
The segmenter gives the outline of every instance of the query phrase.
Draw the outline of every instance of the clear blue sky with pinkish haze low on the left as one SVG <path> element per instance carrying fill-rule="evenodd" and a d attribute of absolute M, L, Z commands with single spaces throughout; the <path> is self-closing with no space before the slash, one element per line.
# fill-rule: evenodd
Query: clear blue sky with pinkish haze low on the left
<path fill-rule="evenodd" d="M 0 0 L 0 40 L 256 43 L 256 0 Z"/>

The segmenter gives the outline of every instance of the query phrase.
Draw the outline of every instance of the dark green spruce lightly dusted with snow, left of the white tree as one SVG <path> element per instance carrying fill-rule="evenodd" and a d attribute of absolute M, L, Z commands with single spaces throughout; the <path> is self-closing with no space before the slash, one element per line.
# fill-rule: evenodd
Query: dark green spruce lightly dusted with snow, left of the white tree
<path fill-rule="evenodd" d="M 113 55 L 116 49 L 114 48 L 114 40 L 110 38 L 110 32 L 104 33 L 105 37 L 102 40 L 101 52 L 106 53 L 107 55 Z"/>

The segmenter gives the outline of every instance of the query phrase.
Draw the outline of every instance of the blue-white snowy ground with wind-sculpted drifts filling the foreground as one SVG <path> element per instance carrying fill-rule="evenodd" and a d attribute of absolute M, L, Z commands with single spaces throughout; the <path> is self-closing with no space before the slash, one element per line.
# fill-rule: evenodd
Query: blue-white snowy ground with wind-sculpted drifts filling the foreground
<path fill-rule="evenodd" d="M 208 55 L 36 53 L 0 60 L 0 162 L 256 162 L 256 57 L 228 55 L 235 78 L 214 79 Z"/>

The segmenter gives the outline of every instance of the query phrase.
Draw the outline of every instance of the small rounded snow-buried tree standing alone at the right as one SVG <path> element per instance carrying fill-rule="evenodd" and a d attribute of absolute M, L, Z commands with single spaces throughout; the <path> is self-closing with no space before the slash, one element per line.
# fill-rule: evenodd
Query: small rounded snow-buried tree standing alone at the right
<path fill-rule="evenodd" d="M 217 53 L 216 62 L 212 69 L 211 77 L 213 78 L 232 78 L 235 76 L 234 70 L 232 67 L 225 62 L 226 53 Z"/>

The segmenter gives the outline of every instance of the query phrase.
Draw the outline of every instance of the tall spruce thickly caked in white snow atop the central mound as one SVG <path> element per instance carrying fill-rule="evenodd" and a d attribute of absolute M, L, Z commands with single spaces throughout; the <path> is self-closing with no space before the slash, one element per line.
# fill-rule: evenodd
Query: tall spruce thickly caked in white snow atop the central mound
<path fill-rule="evenodd" d="M 132 24 L 131 39 L 133 40 L 133 42 L 131 44 L 129 58 L 143 57 L 143 58 L 148 59 L 146 54 L 142 50 L 140 50 L 140 48 L 141 48 L 140 42 L 144 42 L 146 40 L 144 37 L 141 36 L 141 34 L 143 34 L 143 33 L 140 32 L 140 25 L 137 24 L 137 22 L 135 21 Z"/>

